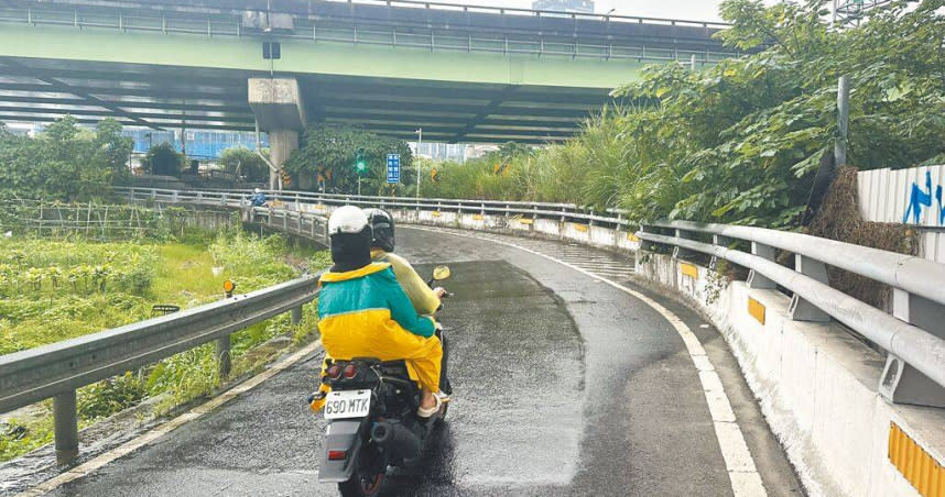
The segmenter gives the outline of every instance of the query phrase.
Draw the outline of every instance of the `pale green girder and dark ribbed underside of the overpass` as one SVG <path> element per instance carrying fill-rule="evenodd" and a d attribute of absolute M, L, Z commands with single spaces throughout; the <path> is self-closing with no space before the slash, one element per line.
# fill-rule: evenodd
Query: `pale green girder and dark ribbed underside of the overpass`
<path fill-rule="evenodd" d="M 0 20 L 0 122 L 72 113 L 80 122 L 110 115 L 155 129 L 252 130 L 247 79 L 273 76 L 300 81 L 312 121 L 408 140 L 423 128 L 431 141 L 545 143 L 573 135 L 645 65 L 515 46 L 460 49 L 432 38 L 419 47 L 214 34 L 209 21 L 199 34 L 120 20 L 120 29 L 31 21 Z M 280 43 L 278 60 L 262 56 L 269 40 Z"/>

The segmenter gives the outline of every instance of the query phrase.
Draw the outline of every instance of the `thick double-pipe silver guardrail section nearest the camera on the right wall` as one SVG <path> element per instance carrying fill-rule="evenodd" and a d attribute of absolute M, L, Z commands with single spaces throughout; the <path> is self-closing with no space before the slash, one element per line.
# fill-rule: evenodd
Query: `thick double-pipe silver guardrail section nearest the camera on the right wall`
<path fill-rule="evenodd" d="M 697 240 L 699 235 L 712 235 L 712 242 Z M 727 224 L 655 222 L 637 236 L 649 242 L 643 250 L 671 246 L 676 257 L 700 253 L 748 268 L 751 288 L 786 288 L 792 292 L 789 319 L 836 319 L 888 352 L 878 387 L 883 397 L 945 407 L 945 264 L 801 233 Z M 736 241 L 750 242 L 751 252 L 732 248 Z M 775 251 L 794 254 L 795 267 L 776 263 Z M 892 316 L 832 288 L 827 266 L 892 287 Z"/>

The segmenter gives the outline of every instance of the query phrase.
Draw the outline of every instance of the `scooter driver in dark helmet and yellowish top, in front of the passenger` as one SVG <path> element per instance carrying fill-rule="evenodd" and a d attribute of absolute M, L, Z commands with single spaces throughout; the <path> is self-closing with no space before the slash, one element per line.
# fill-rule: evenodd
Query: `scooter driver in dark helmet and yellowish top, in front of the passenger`
<path fill-rule="evenodd" d="M 416 313 L 431 316 L 439 309 L 439 299 L 446 294 L 442 287 L 434 289 L 416 274 L 410 263 L 393 253 L 394 221 L 390 213 L 381 209 L 365 209 L 371 224 L 371 259 L 376 263 L 389 263 L 403 287 Z"/>

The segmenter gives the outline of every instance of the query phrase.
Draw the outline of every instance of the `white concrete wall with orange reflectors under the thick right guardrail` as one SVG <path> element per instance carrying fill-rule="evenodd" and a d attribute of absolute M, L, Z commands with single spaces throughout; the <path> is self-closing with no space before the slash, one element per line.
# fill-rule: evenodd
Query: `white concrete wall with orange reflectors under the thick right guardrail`
<path fill-rule="evenodd" d="M 941 466 L 942 410 L 881 398 L 877 385 L 884 356 L 840 325 L 791 321 L 783 294 L 728 283 L 705 267 L 696 266 L 698 278 L 693 278 L 681 264 L 645 254 L 638 257 L 637 272 L 702 310 L 721 331 L 811 495 L 920 495 L 890 459 L 891 427 L 919 445 L 904 457 L 924 456 Z M 923 485 L 921 471 L 911 476 Z"/>

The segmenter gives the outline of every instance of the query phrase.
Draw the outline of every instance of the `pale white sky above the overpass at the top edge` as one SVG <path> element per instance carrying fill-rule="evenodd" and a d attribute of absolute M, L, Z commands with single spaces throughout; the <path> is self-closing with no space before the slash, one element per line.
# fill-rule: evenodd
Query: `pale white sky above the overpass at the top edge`
<path fill-rule="evenodd" d="M 444 2 L 524 9 L 532 7 L 531 0 L 445 0 Z M 692 21 L 721 20 L 718 16 L 718 4 L 721 3 L 721 0 L 595 0 L 594 3 L 595 10 L 599 13 L 606 13 L 610 9 L 616 9 L 613 11 L 615 14 L 638 15 L 643 18 L 666 18 Z"/>

